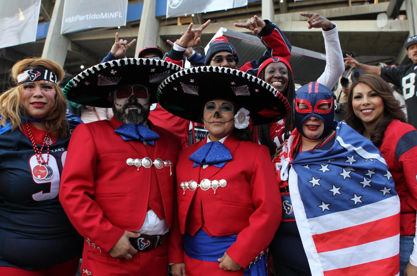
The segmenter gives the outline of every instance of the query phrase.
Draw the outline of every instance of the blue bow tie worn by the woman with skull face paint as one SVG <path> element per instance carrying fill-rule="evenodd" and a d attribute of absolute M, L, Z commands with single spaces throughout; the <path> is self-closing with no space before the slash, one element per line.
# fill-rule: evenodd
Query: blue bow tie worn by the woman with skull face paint
<path fill-rule="evenodd" d="M 189 158 L 194 161 L 193 167 L 213 165 L 219 168 L 233 159 L 230 150 L 221 142 L 208 142 L 191 154 Z"/>

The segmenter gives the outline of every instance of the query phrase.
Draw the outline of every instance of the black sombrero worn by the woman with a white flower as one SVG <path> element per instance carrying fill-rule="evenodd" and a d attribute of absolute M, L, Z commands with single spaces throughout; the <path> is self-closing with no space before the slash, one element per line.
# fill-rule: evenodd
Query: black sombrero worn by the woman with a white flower
<path fill-rule="evenodd" d="M 285 97 L 265 81 L 218 66 L 188 68 L 169 76 L 159 86 L 157 98 L 167 111 L 198 123 L 203 105 L 212 99 L 248 109 L 253 125 L 276 122 L 290 111 Z"/>

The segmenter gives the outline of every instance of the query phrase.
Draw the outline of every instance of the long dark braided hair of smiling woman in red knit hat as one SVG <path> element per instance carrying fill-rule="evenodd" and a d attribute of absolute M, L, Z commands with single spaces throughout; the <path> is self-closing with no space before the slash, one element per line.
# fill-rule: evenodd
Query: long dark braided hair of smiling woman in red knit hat
<path fill-rule="evenodd" d="M 259 78 L 262 80 L 265 80 L 265 69 L 266 67 L 262 69 L 262 71 L 259 73 Z M 294 102 L 294 96 L 295 96 L 295 84 L 294 84 L 294 78 L 292 76 L 291 70 L 289 70 L 288 67 L 287 67 L 287 70 L 288 70 L 288 86 L 287 86 L 286 91 L 283 91 L 281 93 L 285 96 L 285 98 L 289 102 L 291 109 L 290 109 L 289 114 L 287 114 L 287 116 L 285 117 L 284 140 L 288 139 L 289 132 L 291 132 L 294 129 L 294 109 L 292 108 L 292 104 Z M 257 127 L 257 129 L 258 129 L 259 142 L 262 145 L 265 145 L 266 147 L 268 147 L 271 155 L 274 154 L 276 147 L 274 143 L 271 141 L 271 137 L 269 135 L 270 125 L 269 124 L 260 125 Z"/>

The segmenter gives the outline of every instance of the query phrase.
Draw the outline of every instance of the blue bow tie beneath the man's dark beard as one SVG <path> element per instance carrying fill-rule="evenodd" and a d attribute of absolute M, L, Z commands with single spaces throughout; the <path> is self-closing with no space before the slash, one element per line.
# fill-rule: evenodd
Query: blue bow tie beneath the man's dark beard
<path fill-rule="evenodd" d="M 151 129 L 148 129 L 143 124 L 122 124 L 120 127 L 114 130 L 119 134 L 123 140 L 139 140 L 146 141 L 151 145 L 155 144 L 155 140 L 159 139 L 159 135 L 156 132 L 153 132 Z"/>

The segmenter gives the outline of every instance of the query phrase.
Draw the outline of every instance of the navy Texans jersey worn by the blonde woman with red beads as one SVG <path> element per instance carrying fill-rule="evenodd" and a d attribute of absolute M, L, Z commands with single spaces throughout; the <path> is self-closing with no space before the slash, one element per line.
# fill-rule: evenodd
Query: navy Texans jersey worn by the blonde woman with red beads
<path fill-rule="evenodd" d="M 0 266 L 33 270 L 75 258 L 83 238 L 58 200 L 70 133 L 47 139 L 48 172 L 43 174 L 35 168 L 38 161 L 26 131 L 23 127 L 0 135 Z M 31 132 L 35 141 L 43 140 L 44 131 L 31 127 Z M 46 148 L 45 144 L 45 161 Z"/>

